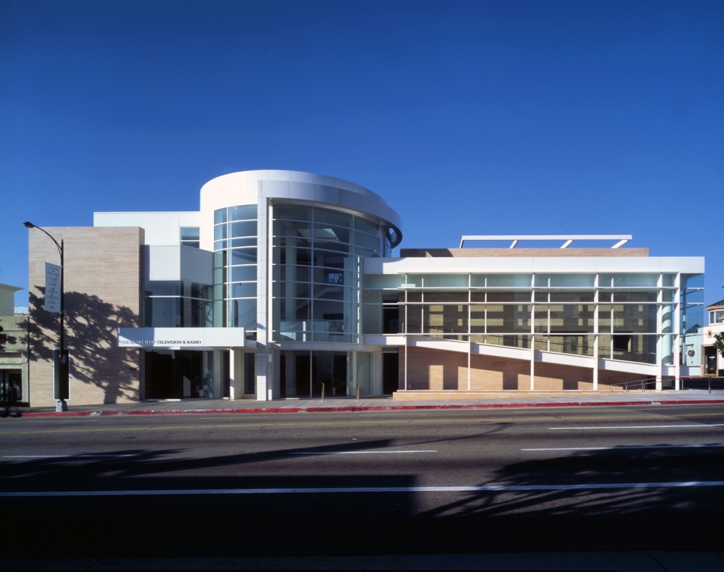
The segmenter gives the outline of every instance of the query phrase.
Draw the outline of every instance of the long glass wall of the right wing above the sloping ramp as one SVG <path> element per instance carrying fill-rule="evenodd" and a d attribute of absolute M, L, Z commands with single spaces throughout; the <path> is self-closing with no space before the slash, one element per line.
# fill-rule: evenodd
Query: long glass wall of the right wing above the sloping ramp
<path fill-rule="evenodd" d="M 673 273 L 365 276 L 363 331 L 589 357 L 597 336 L 599 357 L 670 364 L 675 292 Z"/>

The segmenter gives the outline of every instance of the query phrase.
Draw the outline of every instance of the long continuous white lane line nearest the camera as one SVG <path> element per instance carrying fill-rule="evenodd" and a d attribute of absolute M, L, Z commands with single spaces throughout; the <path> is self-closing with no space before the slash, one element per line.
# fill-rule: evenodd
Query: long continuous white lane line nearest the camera
<path fill-rule="evenodd" d="M 292 487 L 287 489 L 179 489 L 179 490 L 68 490 L 68 491 L 0 491 L 3 497 L 123 497 L 167 495 L 289 495 L 308 493 L 361 492 L 515 492 L 544 490 L 668 489 L 724 487 L 724 481 L 686 482 L 611 482 L 589 485 L 487 485 L 479 487 Z"/>

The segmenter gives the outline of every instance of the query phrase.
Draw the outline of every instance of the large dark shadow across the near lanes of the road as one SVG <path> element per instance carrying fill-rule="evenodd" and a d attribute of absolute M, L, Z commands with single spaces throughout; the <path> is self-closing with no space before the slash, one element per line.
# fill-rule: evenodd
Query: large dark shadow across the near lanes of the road
<path fill-rule="evenodd" d="M 35 534 L 48 534 L 51 540 L 41 552 L 49 554 L 192 557 L 723 548 L 723 487 L 666 485 L 718 480 L 721 448 L 539 451 L 477 483 L 440 483 L 480 487 L 461 491 L 422 490 L 421 485 L 431 484 L 424 464 L 402 463 L 392 471 L 369 456 L 362 470 L 345 472 L 349 465 L 314 461 L 317 456 L 399 447 L 396 439 L 380 439 L 201 458 L 182 457 L 183 448 L 119 448 L 70 458 L 3 458 L 0 479 L 5 492 L 49 487 L 156 491 L 119 497 L 6 496 L 4 505 L 11 508 L 16 526 L 22 524 L 17 530 L 27 526 Z M 455 461 L 445 462 L 454 475 Z M 477 462 L 483 470 L 484 451 Z M 618 486 L 626 483 L 631 486 Z M 335 492 L 326 492 L 330 489 Z M 25 533 L 9 538 L 31 547 Z M 36 543 L 33 550 L 38 550 Z"/>

